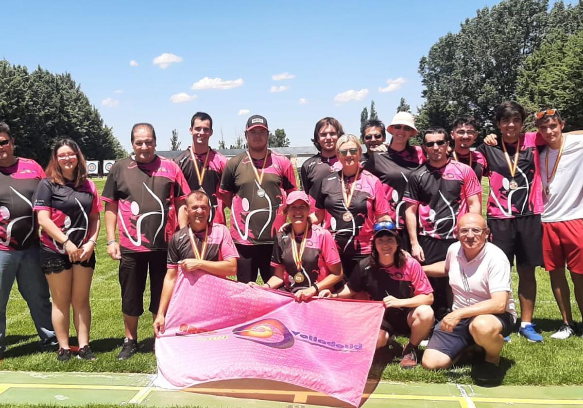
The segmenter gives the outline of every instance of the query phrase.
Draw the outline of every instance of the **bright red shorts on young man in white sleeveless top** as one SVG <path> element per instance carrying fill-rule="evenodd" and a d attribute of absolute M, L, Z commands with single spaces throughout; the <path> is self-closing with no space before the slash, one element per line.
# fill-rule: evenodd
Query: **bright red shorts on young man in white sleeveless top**
<path fill-rule="evenodd" d="M 543 259 L 546 270 L 567 268 L 583 274 L 583 220 L 543 224 Z"/>

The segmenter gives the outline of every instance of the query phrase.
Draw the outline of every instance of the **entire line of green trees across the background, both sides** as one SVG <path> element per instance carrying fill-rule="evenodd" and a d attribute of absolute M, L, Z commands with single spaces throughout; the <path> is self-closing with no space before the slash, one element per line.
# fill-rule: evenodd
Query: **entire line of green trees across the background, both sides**
<path fill-rule="evenodd" d="M 529 112 L 557 108 L 566 131 L 583 128 L 583 0 L 504 0 L 477 10 L 458 33 L 438 39 L 419 61 L 424 103 L 417 107 L 417 129 L 444 126 L 458 115 L 473 115 L 482 124 L 481 141 L 495 130 L 494 110 L 516 100 Z M 411 111 L 401 98 L 396 111 Z M 361 124 L 378 118 L 374 101 L 361 112 Z M 527 128 L 533 128 L 531 121 Z M 385 122 L 391 118 L 384 118 Z M 0 61 L 0 121 L 10 125 L 16 154 L 48 163 L 56 139 L 71 138 L 87 159 L 127 156 L 111 128 L 68 73 L 54 74 L 40 66 Z M 170 148 L 180 150 L 176 129 Z M 419 144 L 416 136 L 413 143 Z M 270 147 L 287 147 L 284 129 L 269 134 Z M 219 148 L 226 149 L 224 138 Z M 246 147 L 243 132 L 229 145 Z"/>

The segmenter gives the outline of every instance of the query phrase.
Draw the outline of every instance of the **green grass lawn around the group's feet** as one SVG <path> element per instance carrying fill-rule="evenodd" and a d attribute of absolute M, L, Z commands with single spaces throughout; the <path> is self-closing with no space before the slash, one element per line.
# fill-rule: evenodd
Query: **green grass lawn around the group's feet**
<path fill-rule="evenodd" d="M 487 183 L 487 182 L 486 182 Z M 103 189 L 104 180 L 96 181 L 99 191 Z M 484 189 L 484 199 L 487 185 Z M 121 349 L 124 337 L 124 324 L 121 314 L 120 285 L 117 279 L 118 262 L 107 255 L 105 228 L 102 225 L 97 246 L 97 268 L 93 277 L 91 305 L 93 325 L 91 346 L 97 354 L 97 361 L 87 362 L 72 359 L 59 363 L 54 353 L 37 352 L 37 335 L 30 319 L 29 310 L 22 296 L 12 290 L 7 312 L 8 351 L 0 364 L 3 370 L 22 371 L 107 371 L 107 372 L 156 372 L 156 358 L 152 351 L 152 320 L 148 314 L 142 316 L 139 325 L 141 353 L 127 361 L 118 361 L 117 353 Z M 542 330 L 545 342 L 529 343 L 512 333 L 512 342 L 505 344 L 502 355 L 507 359 L 508 371 L 505 385 L 556 385 L 583 384 L 583 339 L 571 337 L 567 340 L 550 339 L 550 335 L 561 323 L 559 309 L 549 287 L 547 273 L 539 269 L 536 273 L 538 298 L 535 309 L 535 322 Z M 515 270 L 512 272 L 514 297 L 518 305 L 518 287 Z M 573 288 L 571 288 L 572 290 Z M 147 292 L 147 291 L 146 291 Z M 145 304 L 149 301 L 146 294 Z M 581 321 L 577 304 L 572 300 L 571 307 L 575 320 Z M 147 308 L 147 306 L 146 306 Z M 75 333 L 71 326 L 71 333 Z M 405 342 L 405 339 L 399 339 Z M 72 340 L 75 344 L 75 340 Z M 422 368 L 403 371 L 398 364 L 389 364 L 375 360 L 371 375 L 381 376 L 389 381 L 420 382 L 459 382 L 471 384 L 469 365 L 461 365 L 452 370 L 429 372 Z"/>

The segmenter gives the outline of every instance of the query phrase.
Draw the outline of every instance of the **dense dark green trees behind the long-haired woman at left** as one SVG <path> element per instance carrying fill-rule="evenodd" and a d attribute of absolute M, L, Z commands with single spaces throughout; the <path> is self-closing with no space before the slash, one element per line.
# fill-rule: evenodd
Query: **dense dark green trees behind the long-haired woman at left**
<path fill-rule="evenodd" d="M 40 68 L 29 73 L 0 61 L 0 118 L 9 126 L 17 156 L 48 164 L 58 139 L 75 140 L 87 160 L 116 159 L 127 152 L 99 111 L 68 73 Z"/>

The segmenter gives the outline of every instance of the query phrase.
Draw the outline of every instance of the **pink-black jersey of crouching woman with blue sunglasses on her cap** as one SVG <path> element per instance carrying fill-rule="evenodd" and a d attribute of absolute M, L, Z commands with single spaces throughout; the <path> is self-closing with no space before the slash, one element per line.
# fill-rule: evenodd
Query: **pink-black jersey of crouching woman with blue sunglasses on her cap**
<path fill-rule="evenodd" d="M 407 256 L 405 265 L 400 268 L 384 268 L 373 262 L 371 256 L 367 256 L 354 267 L 348 286 L 353 291 L 365 291 L 370 294 L 371 300 L 376 301 L 382 301 L 389 295 L 408 299 L 433 293 L 422 266 L 412 256 Z"/>

